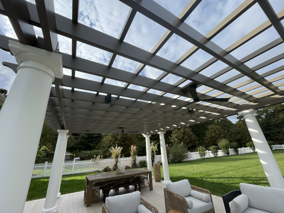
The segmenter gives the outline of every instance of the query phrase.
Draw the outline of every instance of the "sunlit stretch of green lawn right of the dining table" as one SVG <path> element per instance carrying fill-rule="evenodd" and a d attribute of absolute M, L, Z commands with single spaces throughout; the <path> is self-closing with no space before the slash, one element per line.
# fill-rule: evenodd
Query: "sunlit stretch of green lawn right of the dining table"
<path fill-rule="evenodd" d="M 273 154 L 284 174 L 284 150 L 275 150 Z M 209 189 L 217 196 L 240 189 L 240 182 L 269 186 L 256 153 L 170 164 L 169 171 L 171 181 L 188 179 L 190 184 Z"/>

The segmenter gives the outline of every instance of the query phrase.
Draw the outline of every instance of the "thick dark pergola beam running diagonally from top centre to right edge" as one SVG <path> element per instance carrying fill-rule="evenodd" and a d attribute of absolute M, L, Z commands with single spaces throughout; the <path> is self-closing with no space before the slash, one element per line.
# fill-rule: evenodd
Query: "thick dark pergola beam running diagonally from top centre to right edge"
<path fill-rule="evenodd" d="M 282 94 L 282 90 L 277 88 L 272 83 L 265 84 L 261 80 L 260 75 L 253 72 L 248 66 L 241 63 L 238 59 L 228 54 L 217 46 L 212 41 L 208 40 L 205 36 L 197 32 L 195 29 L 188 26 L 186 23 L 178 22 L 178 19 L 175 15 L 167 11 L 164 7 L 160 6 L 158 3 L 148 0 L 147 2 L 135 1 L 135 0 L 120 0 L 126 5 L 136 9 L 146 17 L 160 24 L 161 26 L 171 30 L 178 36 L 184 38 L 185 40 L 193 43 L 200 49 L 211 54 L 213 57 L 224 62 L 228 66 L 234 68 L 235 70 L 245 74 L 249 78 L 253 79 L 257 83 L 271 90 L 275 94 Z"/>

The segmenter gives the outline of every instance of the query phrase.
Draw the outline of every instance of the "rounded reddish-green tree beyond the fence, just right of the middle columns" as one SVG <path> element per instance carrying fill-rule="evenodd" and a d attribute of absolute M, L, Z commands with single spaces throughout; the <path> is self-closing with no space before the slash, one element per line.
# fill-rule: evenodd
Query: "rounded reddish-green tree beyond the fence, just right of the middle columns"
<path fill-rule="evenodd" d="M 194 135 L 188 128 L 178 128 L 173 130 L 170 140 L 172 143 L 180 143 L 181 145 L 188 147 L 193 145 Z"/>

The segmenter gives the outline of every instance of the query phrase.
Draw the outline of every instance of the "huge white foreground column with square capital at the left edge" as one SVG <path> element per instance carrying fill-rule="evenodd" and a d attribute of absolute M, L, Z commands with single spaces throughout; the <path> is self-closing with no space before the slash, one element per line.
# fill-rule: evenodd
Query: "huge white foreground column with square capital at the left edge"
<path fill-rule="evenodd" d="M 20 66 L 0 113 L 0 212 L 22 213 L 51 83 L 63 76 L 62 56 L 14 41 L 8 46 Z"/>

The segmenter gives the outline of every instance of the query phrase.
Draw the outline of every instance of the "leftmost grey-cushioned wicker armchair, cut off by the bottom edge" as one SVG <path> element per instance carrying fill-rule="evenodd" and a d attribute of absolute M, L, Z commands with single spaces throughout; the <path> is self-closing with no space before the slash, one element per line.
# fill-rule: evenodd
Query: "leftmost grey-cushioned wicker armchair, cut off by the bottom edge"
<path fill-rule="evenodd" d="M 102 213 L 158 213 L 158 209 L 141 198 L 140 191 L 107 197 Z"/>

